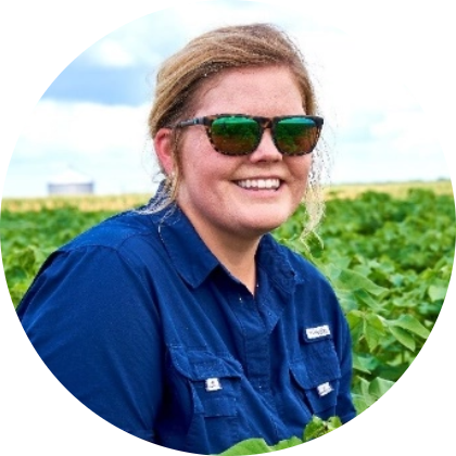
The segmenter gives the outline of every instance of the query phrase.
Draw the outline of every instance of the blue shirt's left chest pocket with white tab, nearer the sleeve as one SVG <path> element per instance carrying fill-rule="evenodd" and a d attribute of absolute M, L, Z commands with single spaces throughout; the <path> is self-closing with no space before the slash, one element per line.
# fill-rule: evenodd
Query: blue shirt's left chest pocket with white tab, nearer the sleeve
<path fill-rule="evenodd" d="M 237 415 L 242 367 L 236 359 L 182 347 L 173 347 L 170 354 L 175 369 L 190 389 L 194 414 L 204 417 Z"/>

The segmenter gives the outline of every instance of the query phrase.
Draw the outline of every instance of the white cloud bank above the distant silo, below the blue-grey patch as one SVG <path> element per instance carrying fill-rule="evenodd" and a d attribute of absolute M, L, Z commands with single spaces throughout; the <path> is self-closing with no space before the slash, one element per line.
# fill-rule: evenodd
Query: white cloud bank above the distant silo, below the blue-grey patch
<path fill-rule="evenodd" d="M 155 166 L 148 112 L 147 105 L 39 101 L 14 147 L 3 194 L 43 195 L 68 165 L 91 176 L 97 193 L 150 191 Z"/>

